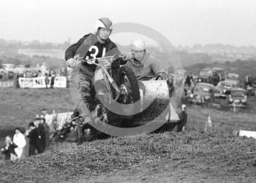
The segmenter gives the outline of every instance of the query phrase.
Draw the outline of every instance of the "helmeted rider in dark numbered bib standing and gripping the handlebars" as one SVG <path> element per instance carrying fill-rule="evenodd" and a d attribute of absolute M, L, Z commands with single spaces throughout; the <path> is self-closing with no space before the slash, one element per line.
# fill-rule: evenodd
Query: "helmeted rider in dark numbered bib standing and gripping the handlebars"
<path fill-rule="evenodd" d="M 84 58 L 89 60 L 91 58 L 119 55 L 120 51 L 116 44 L 109 39 L 112 29 L 112 21 L 110 19 L 107 17 L 99 18 L 95 24 L 96 33 L 86 34 L 77 43 L 67 48 L 65 52 L 67 66 L 72 69 L 78 69 L 78 81 L 76 84 L 82 98 L 76 106 L 73 117 L 76 116 L 75 113 L 79 112 L 85 122 L 91 120 L 91 110 L 89 109 L 91 109 L 91 100 L 94 100 L 94 96 L 91 96 L 91 93 L 95 92 L 92 86 L 92 79 L 97 66 L 89 61 L 78 63 L 75 59 Z M 98 63 L 98 60 L 93 61 Z M 106 60 L 100 60 L 100 62 L 104 65 L 109 64 Z"/>

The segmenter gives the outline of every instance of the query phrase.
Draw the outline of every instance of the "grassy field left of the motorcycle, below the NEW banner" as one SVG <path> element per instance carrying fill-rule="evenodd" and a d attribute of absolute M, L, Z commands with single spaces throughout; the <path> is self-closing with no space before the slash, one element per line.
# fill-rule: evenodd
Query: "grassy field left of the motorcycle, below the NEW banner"
<path fill-rule="evenodd" d="M 1 88 L 0 128 L 23 127 L 34 120 L 43 108 L 48 113 L 72 111 L 69 88 L 21 89 Z"/>

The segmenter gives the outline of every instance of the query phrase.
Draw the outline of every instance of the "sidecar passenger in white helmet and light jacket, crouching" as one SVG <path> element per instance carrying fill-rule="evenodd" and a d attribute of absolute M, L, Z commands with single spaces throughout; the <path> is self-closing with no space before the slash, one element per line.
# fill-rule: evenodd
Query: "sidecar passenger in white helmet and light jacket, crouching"
<path fill-rule="evenodd" d="M 162 64 L 146 52 L 146 44 L 142 39 L 133 40 L 131 50 L 132 58 L 126 65 L 132 68 L 138 80 L 152 79 L 157 74 L 167 79 Z"/>

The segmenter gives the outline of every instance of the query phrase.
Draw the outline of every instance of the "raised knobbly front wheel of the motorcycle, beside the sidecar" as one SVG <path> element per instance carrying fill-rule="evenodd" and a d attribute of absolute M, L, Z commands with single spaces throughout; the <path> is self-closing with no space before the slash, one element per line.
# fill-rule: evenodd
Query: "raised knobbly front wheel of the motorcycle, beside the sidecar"
<path fill-rule="evenodd" d="M 127 104 L 123 107 L 125 114 L 134 114 L 140 111 L 140 90 L 138 80 L 129 66 L 121 66 L 117 71 L 116 84 L 121 90 L 118 103 Z"/>

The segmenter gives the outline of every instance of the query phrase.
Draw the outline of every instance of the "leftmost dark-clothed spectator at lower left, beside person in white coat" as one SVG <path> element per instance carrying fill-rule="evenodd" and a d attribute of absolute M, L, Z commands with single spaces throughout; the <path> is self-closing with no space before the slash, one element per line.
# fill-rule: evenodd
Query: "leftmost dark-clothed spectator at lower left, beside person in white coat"
<path fill-rule="evenodd" d="M 4 160 L 17 160 L 15 148 L 18 147 L 12 142 L 10 136 L 5 137 L 5 147 L 1 149 L 1 153 L 4 154 Z"/>

